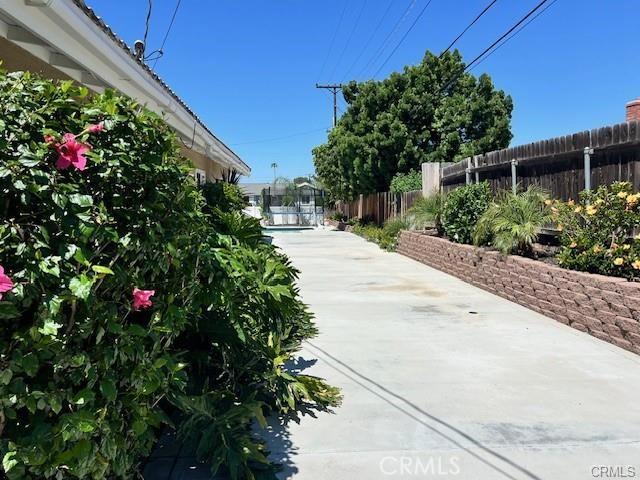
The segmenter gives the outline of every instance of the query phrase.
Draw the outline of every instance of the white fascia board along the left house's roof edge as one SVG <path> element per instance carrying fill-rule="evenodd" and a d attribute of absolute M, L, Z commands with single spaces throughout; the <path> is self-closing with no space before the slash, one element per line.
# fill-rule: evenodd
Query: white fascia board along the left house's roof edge
<path fill-rule="evenodd" d="M 226 145 L 197 123 L 191 113 L 71 0 L 51 0 L 44 5 L 4 0 L 0 1 L 0 11 L 116 90 L 161 114 L 189 145 L 193 139 L 194 150 L 207 155 L 209 146 L 215 145 L 221 152 L 217 161 L 244 175 L 250 172 Z M 50 58 L 42 60 L 49 63 Z"/>

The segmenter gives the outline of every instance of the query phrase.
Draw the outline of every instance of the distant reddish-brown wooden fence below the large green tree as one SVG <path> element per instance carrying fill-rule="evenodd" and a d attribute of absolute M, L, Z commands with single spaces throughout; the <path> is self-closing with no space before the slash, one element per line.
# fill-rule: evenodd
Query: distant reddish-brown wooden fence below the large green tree
<path fill-rule="evenodd" d="M 371 193 L 349 202 L 338 202 L 336 210 L 349 219 L 359 218 L 382 225 L 390 218 L 403 217 L 419 198 L 422 198 L 422 190 Z"/>

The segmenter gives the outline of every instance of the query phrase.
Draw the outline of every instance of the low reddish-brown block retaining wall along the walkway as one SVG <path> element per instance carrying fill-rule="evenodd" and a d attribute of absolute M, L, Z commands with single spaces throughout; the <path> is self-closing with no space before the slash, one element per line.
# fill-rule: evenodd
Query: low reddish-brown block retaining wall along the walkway
<path fill-rule="evenodd" d="M 402 232 L 397 252 L 640 354 L 640 283 Z"/>

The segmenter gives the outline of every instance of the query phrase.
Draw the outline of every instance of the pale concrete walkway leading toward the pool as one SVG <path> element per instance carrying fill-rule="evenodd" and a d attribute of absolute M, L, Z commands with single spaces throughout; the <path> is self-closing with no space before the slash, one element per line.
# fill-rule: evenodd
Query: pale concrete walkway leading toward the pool
<path fill-rule="evenodd" d="M 276 232 L 334 414 L 275 425 L 282 478 L 640 478 L 640 357 L 361 238 Z M 609 476 L 607 476 L 609 475 Z"/>

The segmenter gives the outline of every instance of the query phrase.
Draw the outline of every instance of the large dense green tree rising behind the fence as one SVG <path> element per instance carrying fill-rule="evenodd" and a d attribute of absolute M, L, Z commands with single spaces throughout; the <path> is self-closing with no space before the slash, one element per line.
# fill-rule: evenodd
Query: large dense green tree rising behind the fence
<path fill-rule="evenodd" d="M 334 199 L 386 191 L 398 172 L 508 146 L 511 97 L 491 78 L 462 73 L 458 51 L 382 81 L 350 82 L 349 107 L 313 150 L 316 172 Z"/>

